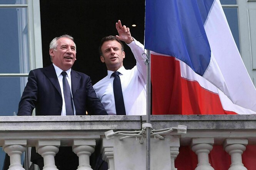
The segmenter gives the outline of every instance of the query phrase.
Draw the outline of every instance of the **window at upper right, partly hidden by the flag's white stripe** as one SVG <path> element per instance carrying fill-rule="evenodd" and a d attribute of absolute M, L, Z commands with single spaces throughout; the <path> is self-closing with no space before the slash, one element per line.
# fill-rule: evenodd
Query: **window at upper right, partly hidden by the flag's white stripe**
<path fill-rule="evenodd" d="M 256 0 L 220 0 L 244 65 L 256 86 Z"/>

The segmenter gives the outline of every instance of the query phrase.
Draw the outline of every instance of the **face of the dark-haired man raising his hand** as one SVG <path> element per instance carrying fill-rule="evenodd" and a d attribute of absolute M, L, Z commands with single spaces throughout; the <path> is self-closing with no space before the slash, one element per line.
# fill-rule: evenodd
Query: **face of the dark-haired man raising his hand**
<path fill-rule="evenodd" d="M 125 53 L 122 46 L 115 40 L 105 41 L 101 46 L 102 56 L 100 60 L 105 63 L 108 70 L 117 71 L 123 66 Z"/>

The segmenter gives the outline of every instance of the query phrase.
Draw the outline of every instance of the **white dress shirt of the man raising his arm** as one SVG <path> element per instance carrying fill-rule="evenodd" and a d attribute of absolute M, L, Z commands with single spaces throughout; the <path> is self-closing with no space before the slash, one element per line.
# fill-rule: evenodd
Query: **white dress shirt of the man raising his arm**
<path fill-rule="evenodd" d="M 136 66 L 132 69 L 119 68 L 124 106 L 126 115 L 146 115 L 146 79 L 147 66 L 145 59 L 141 56 L 144 53 L 144 46 L 134 39 L 128 44 L 136 59 Z M 116 115 L 115 99 L 113 91 L 113 71 L 107 71 L 107 76 L 101 79 L 93 87 L 100 101 L 109 115 Z"/>

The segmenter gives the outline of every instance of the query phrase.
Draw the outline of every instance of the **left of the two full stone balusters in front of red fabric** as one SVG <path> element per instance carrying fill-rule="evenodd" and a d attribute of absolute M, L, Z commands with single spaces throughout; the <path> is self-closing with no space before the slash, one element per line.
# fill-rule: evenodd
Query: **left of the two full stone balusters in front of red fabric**
<path fill-rule="evenodd" d="M 192 139 L 192 150 L 197 155 L 198 164 L 195 170 L 214 170 L 209 163 L 209 153 L 212 150 L 214 138 Z"/>

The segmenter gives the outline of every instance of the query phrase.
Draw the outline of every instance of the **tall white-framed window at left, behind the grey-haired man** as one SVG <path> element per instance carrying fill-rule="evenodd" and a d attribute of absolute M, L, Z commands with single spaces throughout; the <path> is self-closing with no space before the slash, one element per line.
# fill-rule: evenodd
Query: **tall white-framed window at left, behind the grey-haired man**
<path fill-rule="evenodd" d="M 42 67 L 39 0 L 0 0 L 0 23 L 0 116 L 13 116 L 28 72 Z"/>

